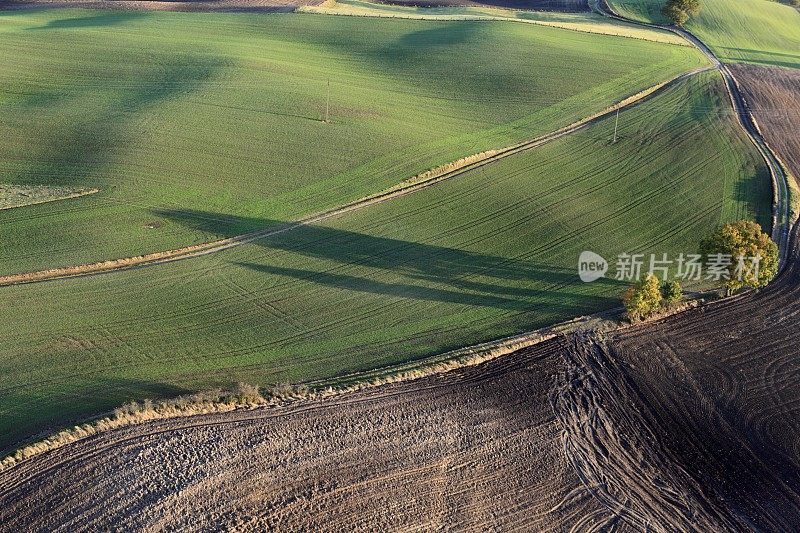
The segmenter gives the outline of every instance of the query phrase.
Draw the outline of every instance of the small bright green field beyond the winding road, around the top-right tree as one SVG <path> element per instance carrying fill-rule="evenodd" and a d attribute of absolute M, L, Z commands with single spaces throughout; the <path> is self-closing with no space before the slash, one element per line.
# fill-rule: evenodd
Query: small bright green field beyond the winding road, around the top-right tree
<path fill-rule="evenodd" d="M 625 17 L 666 22 L 665 0 L 609 0 Z M 800 68 L 800 11 L 772 0 L 701 0 L 686 24 L 724 62 Z"/>

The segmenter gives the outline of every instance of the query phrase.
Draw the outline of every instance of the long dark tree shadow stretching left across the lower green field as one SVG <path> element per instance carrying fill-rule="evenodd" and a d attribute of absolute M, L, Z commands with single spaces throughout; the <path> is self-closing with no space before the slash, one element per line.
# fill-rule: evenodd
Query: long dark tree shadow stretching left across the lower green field
<path fill-rule="evenodd" d="M 285 224 L 268 219 L 243 221 L 241 217 L 192 210 L 162 210 L 157 214 L 218 234 L 224 234 L 230 225 Z M 588 290 L 576 269 L 321 225 L 293 227 L 253 244 L 311 260 L 298 263 L 291 255 L 267 255 L 263 262 L 237 263 L 257 272 L 370 294 L 517 312 L 530 310 L 537 302 L 548 302 L 550 310 L 585 308 L 587 298 L 596 307 L 608 308 L 615 306 L 617 300 L 602 294 L 614 294 L 625 285 L 603 279 Z M 309 265 L 318 268 L 313 270 Z M 348 272 L 342 272 L 344 269 Z M 352 275 L 354 270 L 358 275 Z"/>

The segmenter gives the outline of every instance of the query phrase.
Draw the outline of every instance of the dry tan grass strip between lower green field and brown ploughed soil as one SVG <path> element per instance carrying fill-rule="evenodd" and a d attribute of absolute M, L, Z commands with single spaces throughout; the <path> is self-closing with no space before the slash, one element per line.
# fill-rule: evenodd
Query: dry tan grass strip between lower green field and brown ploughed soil
<path fill-rule="evenodd" d="M 258 420 L 269 416 L 279 416 L 281 412 L 276 411 L 276 408 L 295 407 L 313 409 L 315 405 L 321 401 L 331 401 L 361 391 L 375 390 L 391 384 L 415 381 L 434 375 L 444 375 L 454 370 L 477 366 L 550 341 L 559 336 L 570 335 L 585 330 L 604 334 L 624 331 L 642 324 L 659 322 L 689 309 L 701 305 L 708 305 L 710 303 L 713 302 L 705 302 L 703 299 L 687 300 L 682 305 L 665 310 L 645 321 L 634 323 L 620 321 L 619 318 L 623 315 L 624 308 L 617 307 L 591 315 L 579 316 L 539 329 L 448 350 L 415 361 L 397 363 L 381 368 L 365 370 L 363 372 L 353 372 L 328 379 L 303 382 L 297 386 L 289 386 L 290 389 L 280 395 L 273 395 L 268 398 L 261 397 L 260 400 L 241 403 L 199 401 L 194 404 L 188 403 L 183 407 L 177 407 L 171 404 L 164 408 L 155 407 L 150 410 L 123 414 L 121 417 L 114 417 L 112 412 L 101 413 L 87 418 L 85 422 L 77 423 L 70 428 L 44 434 L 45 436 L 39 440 L 27 444 L 17 444 L 16 450 L 14 450 L 13 447 L 7 448 L 7 450 L 13 451 L 0 454 L 0 474 L 11 468 L 21 466 L 39 455 L 52 452 L 98 434 L 106 434 L 128 427 L 167 420 L 186 420 L 187 423 L 181 426 L 184 428 L 223 426 L 242 421 Z M 446 383 L 446 381 L 442 381 L 442 383 L 433 384 L 428 388 L 435 389 Z M 202 394 L 202 391 L 199 394 Z M 382 394 L 382 396 L 393 394 L 397 393 L 387 392 Z M 365 401 L 370 398 L 372 397 L 356 401 Z M 218 419 L 206 422 L 192 422 L 190 420 L 195 416 L 224 415 L 234 411 L 258 411 L 258 413 L 249 417 L 237 417 L 235 420 Z M 146 435 L 162 434 L 173 431 L 174 429 L 175 428 L 171 427 L 157 429 L 147 432 Z M 114 448 L 128 440 L 139 438 L 140 436 L 141 434 L 137 434 L 132 437 L 118 439 L 103 446 L 101 449 L 94 450 L 92 455 Z M 50 465 L 43 472 L 38 472 L 27 478 L 17 479 L 10 486 L 0 486 L 0 496 L 7 494 L 16 486 L 29 481 L 32 477 L 38 477 L 53 470 L 64 462 L 66 461 L 57 460 L 55 464 Z"/>

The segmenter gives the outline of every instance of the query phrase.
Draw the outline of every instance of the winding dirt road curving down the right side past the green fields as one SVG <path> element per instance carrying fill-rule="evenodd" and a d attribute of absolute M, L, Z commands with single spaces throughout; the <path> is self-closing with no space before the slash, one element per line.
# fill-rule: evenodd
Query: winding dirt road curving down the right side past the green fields
<path fill-rule="evenodd" d="M 630 22 L 633 24 L 639 24 L 640 26 L 646 26 L 649 28 L 660 28 L 662 30 L 671 31 L 674 34 L 683 37 L 686 41 L 700 50 L 713 63 L 713 68 L 720 72 L 722 79 L 725 82 L 728 98 L 730 99 L 733 110 L 736 113 L 737 121 L 747 135 L 747 138 L 761 155 L 761 158 L 764 160 L 764 163 L 767 165 L 767 169 L 769 170 L 770 179 L 772 181 L 772 240 L 778 244 L 778 272 L 782 271 L 786 267 L 788 260 L 790 234 L 795 223 L 797 222 L 797 216 L 800 215 L 800 213 L 797 213 L 792 208 L 791 195 L 797 190 L 797 187 L 792 187 L 790 182 L 792 179 L 790 172 L 783 164 L 778 154 L 772 150 L 766 139 L 764 139 L 764 136 L 761 134 L 758 123 L 750 111 L 747 100 L 739 86 L 739 81 L 736 79 L 727 65 L 725 65 L 717 57 L 714 51 L 690 31 L 665 24 L 654 24 L 628 19 L 614 11 L 614 9 L 608 3 L 608 0 L 592 0 L 590 1 L 590 6 L 595 11 L 606 17 Z"/>

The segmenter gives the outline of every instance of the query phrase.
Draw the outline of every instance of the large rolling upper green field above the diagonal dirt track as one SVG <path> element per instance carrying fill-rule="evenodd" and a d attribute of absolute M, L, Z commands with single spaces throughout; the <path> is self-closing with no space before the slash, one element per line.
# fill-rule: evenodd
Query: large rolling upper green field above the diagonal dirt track
<path fill-rule="evenodd" d="M 100 191 L 0 211 L 0 274 L 340 205 L 704 61 L 686 46 L 503 21 L 0 12 L 0 182 Z M 164 214 L 190 209 L 214 223 Z"/>

